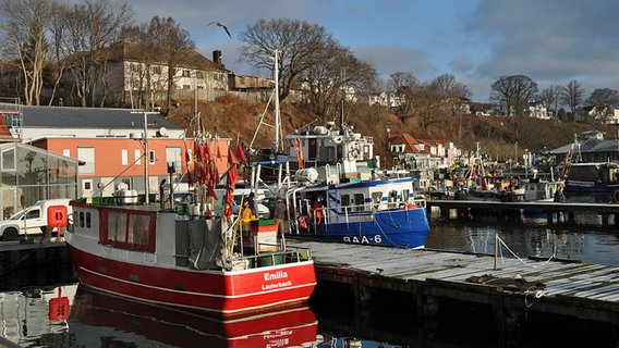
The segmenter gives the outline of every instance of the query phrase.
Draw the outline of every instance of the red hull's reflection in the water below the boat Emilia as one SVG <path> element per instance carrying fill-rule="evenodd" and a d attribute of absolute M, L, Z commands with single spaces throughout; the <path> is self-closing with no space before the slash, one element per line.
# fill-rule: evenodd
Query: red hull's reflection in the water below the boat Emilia
<path fill-rule="evenodd" d="M 84 347 L 289 347 L 316 341 L 318 322 L 310 308 L 235 320 L 144 304 L 80 287 L 69 330 Z M 128 345 L 129 347 L 129 345 Z"/>

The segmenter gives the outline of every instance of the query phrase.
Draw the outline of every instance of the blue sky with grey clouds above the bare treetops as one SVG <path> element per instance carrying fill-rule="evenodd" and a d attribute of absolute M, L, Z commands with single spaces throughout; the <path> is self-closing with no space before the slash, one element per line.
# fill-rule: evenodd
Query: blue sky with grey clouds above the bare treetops
<path fill-rule="evenodd" d="M 239 61 L 239 34 L 258 20 L 291 18 L 326 28 L 379 76 L 422 82 L 451 74 L 487 102 L 501 76 L 526 75 L 539 90 L 578 80 L 585 98 L 619 89 L 617 0 L 128 0 L 135 24 L 171 16 L 198 51 L 222 51 L 226 67 L 268 76 Z M 222 22 L 232 37 L 210 22 Z"/>

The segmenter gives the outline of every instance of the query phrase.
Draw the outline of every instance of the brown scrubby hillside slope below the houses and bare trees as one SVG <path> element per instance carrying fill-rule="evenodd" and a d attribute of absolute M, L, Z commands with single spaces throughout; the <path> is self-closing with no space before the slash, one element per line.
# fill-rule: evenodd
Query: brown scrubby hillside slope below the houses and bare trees
<path fill-rule="evenodd" d="M 207 132 L 231 138 L 234 142 L 240 139 L 246 146 L 252 142 L 266 108 L 264 103 L 248 102 L 231 96 L 213 102 L 199 102 L 197 107 Z M 184 125 L 190 129 L 189 135 L 191 136 L 193 135 L 191 129 L 194 129 L 195 124 L 194 114 L 194 101 L 181 101 L 180 107 L 170 112 L 169 119 Z M 314 121 L 315 116 L 312 112 L 289 103 L 280 105 L 280 114 L 282 137 L 303 125 L 320 124 Z M 333 119 L 326 121 L 339 122 L 339 116 L 333 116 Z M 423 129 L 422 120 L 418 117 L 402 121 L 384 108 L 356 104 L 348 107 L 344 112 L 344 122 L 353 122 L 357 133 L 374 137 L 374 151 L 383 159 L 390 159 L 386 142 L 387 127 L 391 129 L 392 135 L 408 133 L 417 139 L 451 140 L 463 151 L 475 151 L 478 142 L 482 152 L 498 160 L 513 158 L 517 152 L 521 157 L 524 149 L 542 152 L 544 149 L 558 148 L 572 142 L 574 135 L 580 138 L 583 132 L 592 128 L 590 124 L 555 123 L 537 119 L 514 120 L 513 117 L 475 115 L 462 115 L 457 119 L 430 120 L 426 117 L 424 123 L 427 126 Z M 264 122 L 272 124 L 271 110 L 267 110 Z M 262 125 L 258 129 L 259 133 L 253 148 L 272 147 L 272 127 Z M 615 136 L 617 132 L 614 127 L 599 125 L 596 125 L 596 129 L 606 132 L 607 138 Z"/>

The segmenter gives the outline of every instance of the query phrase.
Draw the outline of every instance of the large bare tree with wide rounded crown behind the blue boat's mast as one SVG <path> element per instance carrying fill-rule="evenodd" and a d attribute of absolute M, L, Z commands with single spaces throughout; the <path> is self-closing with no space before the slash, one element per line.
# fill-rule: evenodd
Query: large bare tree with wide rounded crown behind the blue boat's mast
<path fill-rule="evenodd" d="M 240 34 L 242 61 L 274 71 L 274 50 L 279 50 L 279 98 L 284 100 L 299 77 L 312 69 L 316 51 L 332 41 L 323 26 L 298 20 L 259 20 Z"/>

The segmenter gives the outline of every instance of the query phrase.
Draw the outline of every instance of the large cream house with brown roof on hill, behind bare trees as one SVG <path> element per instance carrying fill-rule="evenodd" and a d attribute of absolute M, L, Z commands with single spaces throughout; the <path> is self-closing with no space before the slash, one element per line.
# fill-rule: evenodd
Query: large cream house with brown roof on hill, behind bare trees
<path fill-rule="evenodd" d="M 118 42 L 110 47 L 101 54 L 107 59 L 107 63 L 105 74 L 104 71 L 100 72 L 102 77 L 93 88 L 94 104 L 100 104 L 105 99 L 107 105 L 139 109 L 153 107 L 153 100 L 166 100 L 170 63 L 166 61 L 168 54 L 162 50 L 166 49 L 138 42 Z M 215 100 L 228 94 L 228 70 L 221 61 L 221 51 L 213 52 L 213 61 L 196 51 L 183 52 L 177 54 L 172 63 L 172 99 Z M 63 77 L 65 86 L 77 83 L 72 74 L 65 74 Z M 75 88 L 66 88 L 63 102 L 78 100 L 77 96 L 69 95 L 70 90 Z M 88 98 L 88 101 L 90 99 Z"/>

